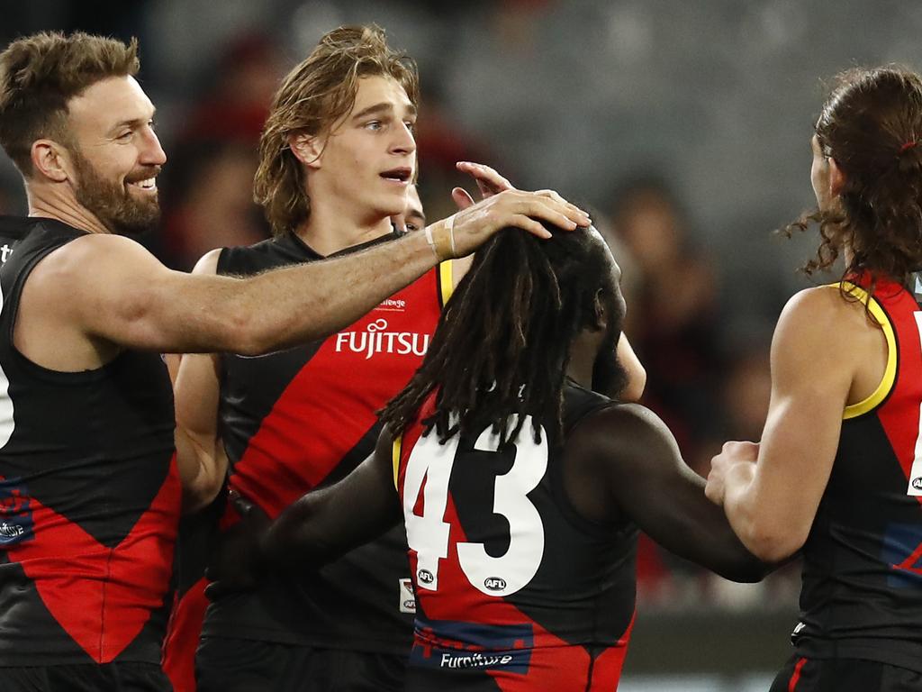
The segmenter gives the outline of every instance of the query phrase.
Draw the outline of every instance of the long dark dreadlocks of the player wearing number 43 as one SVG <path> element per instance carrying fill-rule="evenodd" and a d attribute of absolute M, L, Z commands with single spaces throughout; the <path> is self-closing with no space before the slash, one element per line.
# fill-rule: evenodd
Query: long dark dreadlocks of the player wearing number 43
<path fill-rule="evenodd" d="M 503 445 L 527 415 L 536 442 L 542 426 L 560 433 L 571 344 L 583 329 L 600 328 L 597 292 L 613 289 L 594 229 L 550 231 L 543 241 L 504 229 L 479 250 L 422 366 L 381 412 L 392 432 L 402 432 L 436 390 L 435 412 L 423 424 L 434 425 L 442 443 L 490 425 Z"/>

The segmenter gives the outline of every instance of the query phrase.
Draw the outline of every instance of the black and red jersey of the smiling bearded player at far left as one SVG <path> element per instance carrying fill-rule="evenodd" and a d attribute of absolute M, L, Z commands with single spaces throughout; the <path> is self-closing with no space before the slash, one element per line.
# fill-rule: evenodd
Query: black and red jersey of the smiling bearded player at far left
<path fill-rule="evenodd" d="M 160 662 L 180 514 L 166 365 L 124 351 L 63 373 L 13 344 L 30 271 L 82 235 L 0 219 L 0 666 Z"/>

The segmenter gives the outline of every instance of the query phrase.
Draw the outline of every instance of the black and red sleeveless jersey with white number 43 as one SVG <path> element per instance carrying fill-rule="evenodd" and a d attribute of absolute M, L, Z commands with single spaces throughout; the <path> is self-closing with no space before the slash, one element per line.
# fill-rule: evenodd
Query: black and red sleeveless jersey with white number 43
<path fill-rule="evenodd" d="M 394 446 L 417 596 L 408 690 L 617 686 L 633 622 L 637 531 L 583 518 L 565 447 L 528 418 L 498 447 L 484 426 L 440 445 L 419 421 Z M 569 382 L 564 441 L 614 402 Z"/>

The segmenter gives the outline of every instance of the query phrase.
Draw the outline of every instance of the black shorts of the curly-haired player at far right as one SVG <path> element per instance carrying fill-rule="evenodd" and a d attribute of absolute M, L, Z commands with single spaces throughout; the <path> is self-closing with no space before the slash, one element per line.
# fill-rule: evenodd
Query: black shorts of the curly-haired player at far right
<path fill-rule="evenodd" d="M 770 692 L 919 692 L 922 673 L 876 661 L 794 655 Z"/>

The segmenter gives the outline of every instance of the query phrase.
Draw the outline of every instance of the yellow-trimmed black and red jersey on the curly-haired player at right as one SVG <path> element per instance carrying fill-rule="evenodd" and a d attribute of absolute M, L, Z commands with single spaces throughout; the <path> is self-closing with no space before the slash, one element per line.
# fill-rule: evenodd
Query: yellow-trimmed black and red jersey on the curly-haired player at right
<path fill-rule="evenodd" d="M 832 475 L 803 547 L 793 638 L 806 658 L 922 672 L 922 283 L 914 280 L 915 296 L 879 280 L 869 301 L 889 356 L 877 390 L 845 409 Z M 863 288 L 846 286 L 867 302 Z"/>

